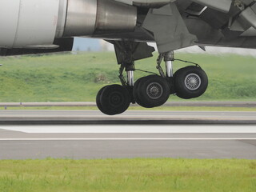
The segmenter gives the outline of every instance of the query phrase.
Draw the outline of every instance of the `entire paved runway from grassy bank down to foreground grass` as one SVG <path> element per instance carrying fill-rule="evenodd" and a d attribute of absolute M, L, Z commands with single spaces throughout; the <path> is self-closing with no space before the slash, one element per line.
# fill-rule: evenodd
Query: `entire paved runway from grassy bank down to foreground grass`
<path fill-rule="evenodd" d="M 256 112 L 1 110 L 0 159 L 255 159 L 255 122 Z"/>

